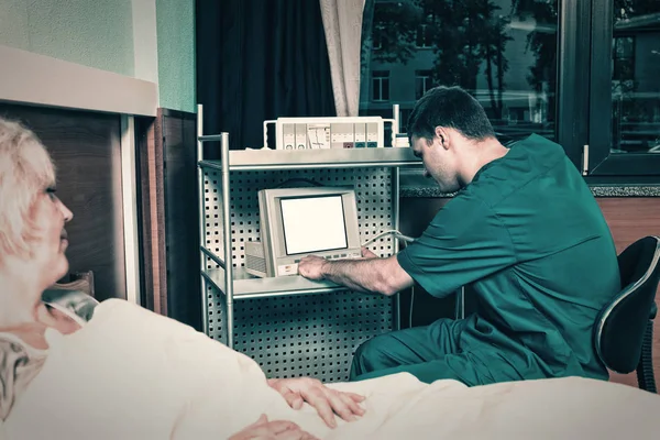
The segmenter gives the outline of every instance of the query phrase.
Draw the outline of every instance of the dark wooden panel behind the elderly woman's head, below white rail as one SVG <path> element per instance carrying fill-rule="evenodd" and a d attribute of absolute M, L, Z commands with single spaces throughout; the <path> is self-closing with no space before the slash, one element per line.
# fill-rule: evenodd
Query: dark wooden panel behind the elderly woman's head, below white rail
<path fill-rule="evenodd" d="M 57 195 L 74 212 L 69 271 L 92 271 L 100 300 L 125 298 L 119 116 L 12 103 L 0 116 L 31 128 L 55 162 Z"/>

